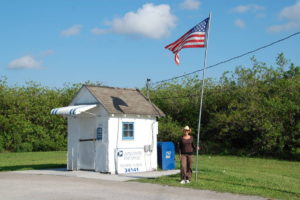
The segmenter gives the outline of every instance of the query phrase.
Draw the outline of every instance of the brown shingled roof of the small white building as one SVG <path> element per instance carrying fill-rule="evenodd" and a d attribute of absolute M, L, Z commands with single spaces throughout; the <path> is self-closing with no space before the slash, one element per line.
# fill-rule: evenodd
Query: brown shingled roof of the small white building
<path fill-rule="evenodd" d="M 83 87 L 86 87 L 110 114 L 165 116 L 138 89 L 88 85 Z"/>

